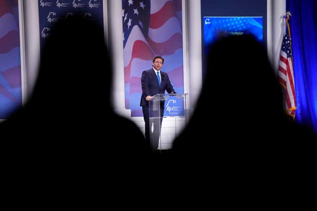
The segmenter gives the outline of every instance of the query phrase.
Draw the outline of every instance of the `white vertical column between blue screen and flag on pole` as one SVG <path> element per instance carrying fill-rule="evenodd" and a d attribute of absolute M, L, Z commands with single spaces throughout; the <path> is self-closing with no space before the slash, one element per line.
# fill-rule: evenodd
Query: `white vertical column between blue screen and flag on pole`
<path fill-rule="evenodd" d="M 272 1 L 272 66 L 278 70 L 281 45 L 285 31 L 283 16 L 286 13 L 286 0 Z"/>

